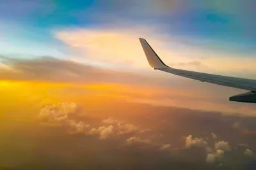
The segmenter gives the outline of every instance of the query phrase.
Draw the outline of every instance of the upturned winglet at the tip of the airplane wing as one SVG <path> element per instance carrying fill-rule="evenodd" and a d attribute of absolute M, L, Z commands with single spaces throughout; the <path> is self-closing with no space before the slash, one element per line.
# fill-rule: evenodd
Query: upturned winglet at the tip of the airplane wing
<path fill-rule="evenodd" d="M 168 66 L 164 64 L 164 62 L 158 57 L 157 53 L 153 50 L 153 48 L 148 44 L 146 39 L 139 38 L 142 48 L 145 52 L 145 55 L 148 60 L 148 64 L 154 69 L 163 69 Z"/>

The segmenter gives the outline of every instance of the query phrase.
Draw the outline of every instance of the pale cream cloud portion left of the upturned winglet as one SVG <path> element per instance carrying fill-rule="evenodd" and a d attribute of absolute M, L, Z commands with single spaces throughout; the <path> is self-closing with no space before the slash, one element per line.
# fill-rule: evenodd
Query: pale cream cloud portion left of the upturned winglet
<path fill-rule="evenodd" d="M 140 32 L 150 34 L 152 31 L 144 28 L 137 28 L 136 32 L 122 28 L 106 29 L 105 31 L 102 29 L 78 29 L 56 32 L 56 38 L 67 43 L 75 52 L 79 50 L 80 53 L 86 53 L 84 59 L 87 58 L 93 62 L 112 64 L 113 67 L 120 65 L 126 68 L 131 66 L 147 68 L 147 59 L 136 57 L 144 55 L 138 40 Z"/>

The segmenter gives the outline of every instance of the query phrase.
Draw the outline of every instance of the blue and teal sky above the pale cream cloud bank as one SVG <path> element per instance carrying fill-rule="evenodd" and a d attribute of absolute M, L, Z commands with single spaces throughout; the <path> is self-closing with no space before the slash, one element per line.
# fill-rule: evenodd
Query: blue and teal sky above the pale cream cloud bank
<path fill-rule="evenodd" d="M 4 0 L 2 4 L 0 43 L 6 46 L 2 53 L 23 49 L 20 53 L 64 57 L 60 48 L 65 43 L 54 37 L 54 31 L 125 25 L 154 27 L 182 37 L 184 44 L 241 57 L 255 53 L 255 1 Z"/>

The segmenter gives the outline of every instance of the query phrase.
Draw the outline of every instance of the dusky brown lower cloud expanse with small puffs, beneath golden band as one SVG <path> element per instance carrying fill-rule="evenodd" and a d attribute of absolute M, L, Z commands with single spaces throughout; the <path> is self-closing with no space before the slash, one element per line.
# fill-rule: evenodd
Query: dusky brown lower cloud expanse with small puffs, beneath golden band
<path fill-rule="evenodd" d="M 89 110 L 87 104 L 83 106 Z M 10 159 L 10 164 L 17 162 L 17 159 L 13 159 L 13 155 L 16 155 L 16 158 L 19 158 L 19 164 L 15 163 L 14 165 L 18 165 L 17 167 L 20 169 L 31 169 L 28 166 L 26 168 L 20 166 L 21 163 L 28 161 L 33 161 L 32 166 L 52 169 L 52 164 L 43 164 L 51 162 L 52 154 L 54 154 L 54 160 L 60 162 L 54 164 L 54 167 L 61 167 L 60 169 L 72 169 L 72 166 L 73 169 L 80 167 L 102 169 L 103 165 L 107 169 L 125 169 L 127 167 L 140 169 L 141 166 L 148 169 L 219 169 L 220 167 L 217 166 L 220 163 L 225 169 L 234 169 L 246 166 L 248 160 L 251 160 L 250 157 L 246 158 L 244 155 L 244 151 L 248 147 L 237 148 L 234 152 L 216 149 L 214 147 L 216 140 L 210 138 L 212 132 L 218 134 L 218 139 L 225 136 L 228 145 L 229 143 L 234 145 L 248 143 L 250 150 L 255 149 L 255 138 L 251 138 L 252 136 L 244 138 L 244 134 L 234 131 L 231 127 L 234 122 L 255 127 L 255 117 L 223 116 L 218 113 L 145 104 L 122 103 L 120 108 L 116 103 L 109 103 L 108 106 L 102 103 L 96 104 L 99 105 L 95 107 L 101 107 L 100 111 L 102 111 L 104 119 L 102 119 L 102 115 L 95 115 L 94 111 L 86 111 L 86 115 L 83 115 L 86 118 L 68 114 L 67 119 L 63 121 L 65 124 L 61 127 L 43 129 L 42 125 L 37 126 L 35 122 L 28 122 L 24 125 L 15 123 L 15 127 L 0 124 L 1 129 L 9 129 L 9 131 L 4 129 L 8 133 L 5 135 L 6 138 L 1 141 L 5 147 L 0 147 L 0 155 L 4 155 L 4 150 L 9 151 L 6 159 Z M 101 113 L 99 108 L 97 111 L 97 113 Z M 97 119 L 87 118 L 87 115 L 97 116 Z M 106 115 L 108 117 L 105 117 Z M 108 122 L 113 124 L 106 124 Z M 134 125 L 138 127 L 138 130 L 118 135 L 119 123 Z M 87 126 L 88 124 L 90 127 Z M 217 124 L 218 126 L 216 126 Z M 89 135 L 88 132 L 93 128 L 93 134 Z M 141 129 L 147 128 L 152 131 L 139 133 Z M 40 133 L 33 136 L 35 132 Z M 74 136 L 67 132 L 80 135 Z M 151 138 L 154 134 L 158 136 L 163 134 L 163 136 Z M 189 148 L 184 148 L 184 140 L 180 140 L 184 134 L 195 134 L 195 136 L 186 136 L 186 144 L 189 143 Z M 198 136 L 202 138 L 195 138 Z M 207 137 L 208 140 L 206 140 Z M 26 140 L 24 141 L 24 139 Z M 15 141 L 20 141 L 19 145 Z M 207 145 L 205 141 L 207 141 Z M 172 143 L 172 146 L 169 146 L 168 143 Z M 13 150 L 13 146 L 15 146 L 15 150 Z M 207 150 L 207 148 L 211 148 L 211 150 Z M 24 149 L 28 152 L 24 153 Z M 35 150 L 36 155 L 33 152 Z M 109 157 L 109 153 L 111 153 L 111 157 Z M 90 163 L 84 161 L 84 157 L 90 157 Z M 72 161 L 71 165 L 69 161 Z"/>

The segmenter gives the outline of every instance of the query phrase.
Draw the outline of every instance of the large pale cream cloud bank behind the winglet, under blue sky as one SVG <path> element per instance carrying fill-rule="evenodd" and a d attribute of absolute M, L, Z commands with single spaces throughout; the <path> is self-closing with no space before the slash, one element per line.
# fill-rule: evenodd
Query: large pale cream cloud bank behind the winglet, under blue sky
<path fill-rule="evenodd" d="M 154 27 L 134 26 L 129 29 L 73 29 L 57 31 L 55 34 L 56 38 L 70 46 L 74 53 L 79 52 L 79 58 L 74 59 L 79 61 L 84 59 L 87 62 L 96 61 L 114 67 L 150 69 L 138 41 L 138 38 L 146 38 L 166 64 L 177 64 L 177 67 L 182 69 L 220 74 L 255 71 L 255 59 L 252 56 L 246 56 L 244 59 L 238 53 L 216 52 L 189 45 L 186 37 L 170 36 L 163 32 Z M 179 63 L 185 64 L 182 66 Z M 246 72 L 243 74 L 246 75 Z"/>

